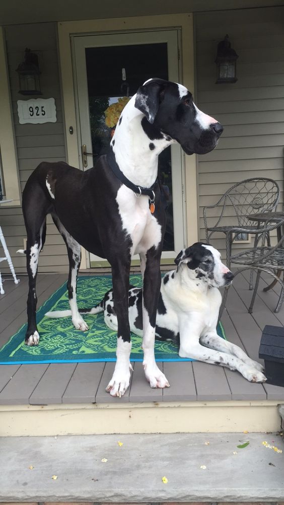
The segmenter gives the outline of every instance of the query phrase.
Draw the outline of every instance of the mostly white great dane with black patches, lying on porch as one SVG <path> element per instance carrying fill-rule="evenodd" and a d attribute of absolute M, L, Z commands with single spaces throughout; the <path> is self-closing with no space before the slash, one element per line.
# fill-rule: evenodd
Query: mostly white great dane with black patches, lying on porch
<path fill-rule="evenodd" d="M 216 332 L 221 293 L 218 288 L 231 283 L 233 274 L 221 262 L 220 253 L 208 244 L 197 242 L 183 249 L 175 259 L 176 270 L 168 272 L 161 284 L 156 319 L 156 337 L 179 342 L 179 356 L 238 370 L 251 382 L 264 382 L 263 367 L 251 360 L 238 345 Z M 133 333 L 143 336 L 142 289 L 130 287 L 129 323 Z M 105 322 L 117 330 L 113 291 L 98 305 L 79 309 L 80 314 L 104 311 Z M 71 311 L 54 311 L 48 317 L 71 316 Z"/>

